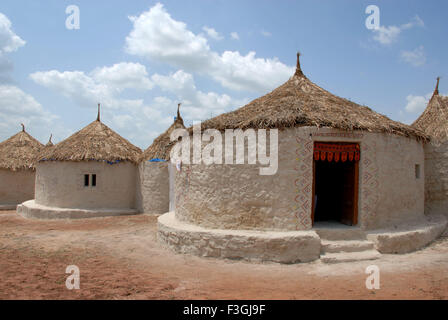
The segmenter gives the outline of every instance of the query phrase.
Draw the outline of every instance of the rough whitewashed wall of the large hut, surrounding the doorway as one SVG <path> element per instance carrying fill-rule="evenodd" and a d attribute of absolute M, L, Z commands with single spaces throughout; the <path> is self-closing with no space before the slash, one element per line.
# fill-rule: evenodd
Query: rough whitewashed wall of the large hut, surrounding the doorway
<path fill-rule="evenodd" d="M 182 165 L 176 175 L 176 218 L 217 229 L 308 230 L 314 141 L 357 142 L 358 224 L 363 229 L 418 220 L 424 213 L 424 153 L 415 139 L 384 133 L 300 127 L 279 131 L 279 166 Z M 420 178 L 415 165 L 420 165 Z"/>

